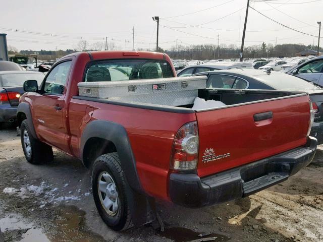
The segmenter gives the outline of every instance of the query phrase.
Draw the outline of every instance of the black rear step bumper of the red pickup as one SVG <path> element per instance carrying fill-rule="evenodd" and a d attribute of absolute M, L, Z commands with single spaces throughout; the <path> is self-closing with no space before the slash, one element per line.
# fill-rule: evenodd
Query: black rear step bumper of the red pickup
<path fill-rule="evenodd" d="M 197 174 L 172 173 L 170 198 L 176 204 L 196 208 L 249 196 L 281 183 L 307 166 L 316 146 L 316 139 L 308 137 L 304 147 L 203 178 Z"/>

